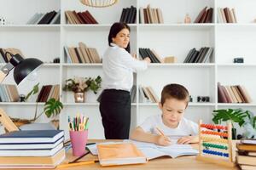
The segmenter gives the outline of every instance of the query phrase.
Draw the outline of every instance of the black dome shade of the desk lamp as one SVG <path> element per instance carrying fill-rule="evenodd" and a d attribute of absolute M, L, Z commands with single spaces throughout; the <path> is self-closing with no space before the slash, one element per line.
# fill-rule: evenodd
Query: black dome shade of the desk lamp
<path fill-rule="evenodd" d="M 19 84 L 25 77 L 42 64 L 43 62 L 41 60 L 35 58 L 21 60 L 20 63 L 15 66 L 14 78 L 16 84 Z"/>

